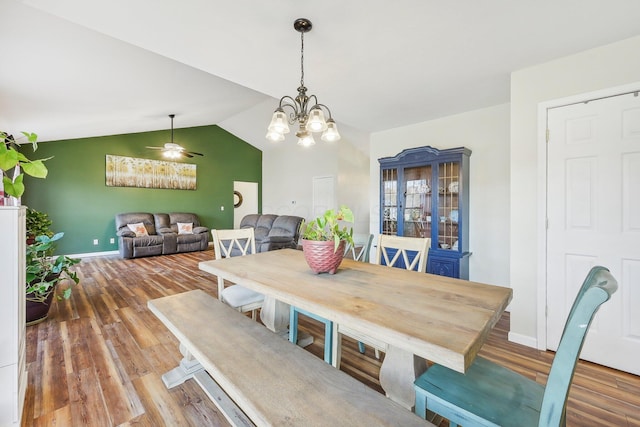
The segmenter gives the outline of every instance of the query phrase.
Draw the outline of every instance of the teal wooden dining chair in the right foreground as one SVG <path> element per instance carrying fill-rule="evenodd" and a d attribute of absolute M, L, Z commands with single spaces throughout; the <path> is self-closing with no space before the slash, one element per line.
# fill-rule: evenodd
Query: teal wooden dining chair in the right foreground
<path fill-rule="evenodd" d="M 433 411 L 450 426 L 564 426 L 589 325 L 617 288 L 608 269 L 591 269 L 567 317 L 546 386 L 479 356 L 465 374 L 433 365 L 414 383 L 416 414 L 426 418 Z"/>

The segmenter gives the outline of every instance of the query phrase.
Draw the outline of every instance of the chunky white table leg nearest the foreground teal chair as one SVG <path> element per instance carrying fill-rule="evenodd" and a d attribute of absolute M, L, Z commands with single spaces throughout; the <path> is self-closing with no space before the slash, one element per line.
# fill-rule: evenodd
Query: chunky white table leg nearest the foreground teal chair
<path fill-rule="evenodd" d="M 413 382 L 426 370 L 422 357 L 390 345 L 380 367 L 380 385 L 388 398 L 412 411 L 416 402 Z"/>

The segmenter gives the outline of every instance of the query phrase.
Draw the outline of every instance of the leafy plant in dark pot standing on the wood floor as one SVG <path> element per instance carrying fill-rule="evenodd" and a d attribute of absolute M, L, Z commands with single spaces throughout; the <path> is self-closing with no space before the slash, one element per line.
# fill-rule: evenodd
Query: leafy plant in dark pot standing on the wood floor
<path fill-rule="evenodd" d="M 80 259 L 66 255 L 53 256 L 55 242 L 63 236 L 64 233 L 56 233 L 51 237 L 41 234 L 26 247 L 27 325 L 47 318 L 58 285 L 63 282 L 69 284 L 61 292 L 62 295 L 58 295 L 58 299 L 68 299 L 72 286 L 80 281 L 78 274 L 71 269 Z"/>

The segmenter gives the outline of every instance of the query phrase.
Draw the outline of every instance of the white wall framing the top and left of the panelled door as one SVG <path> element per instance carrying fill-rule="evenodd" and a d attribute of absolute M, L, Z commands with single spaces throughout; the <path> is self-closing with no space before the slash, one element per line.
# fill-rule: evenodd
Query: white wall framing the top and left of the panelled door
<path fill-rule="evenodd" d="M 544 272 L 537 248 L 544 235 L 538 209 L 540 103 L 640 81 L 640 37 L 588 50 L 511 76 L 511 340 L 540 346 Z M 473 160 L 473 157 L 472 157 Z M 473 165 L 473 162 L 472 162 Z M 472 185 L 473 185 L 472 178 Z M 473 188 L 473 187 L 472 187 Z M 474 255 L 475 256 L 475 255 Z M 540 319 L 540 322 L 538 321 Z M 544 343 L 542 343 L 544 344 Z"/>

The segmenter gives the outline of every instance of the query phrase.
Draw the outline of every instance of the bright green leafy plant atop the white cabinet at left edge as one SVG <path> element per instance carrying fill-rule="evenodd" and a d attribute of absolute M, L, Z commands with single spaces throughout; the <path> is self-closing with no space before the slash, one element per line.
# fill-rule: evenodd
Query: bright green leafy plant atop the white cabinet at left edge
<path fill-rule="evenodd" d="M 38 135 L 35 133 L 22 132 L 36 151 L 38 148 Z M 0 131 L 0 172 L 2 182 L 0 183 L 0 203 L 4 204 L 5 194 L 15 199 L 19 199 L 24 193 L 24 174 L 35 178 L 46 178 L 47 167 L 44 162 L 47 159 L 29 160 L 19 151 L 20 145 L 13 135 Z"/>

